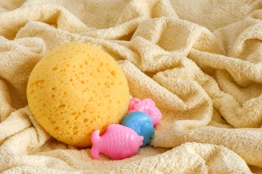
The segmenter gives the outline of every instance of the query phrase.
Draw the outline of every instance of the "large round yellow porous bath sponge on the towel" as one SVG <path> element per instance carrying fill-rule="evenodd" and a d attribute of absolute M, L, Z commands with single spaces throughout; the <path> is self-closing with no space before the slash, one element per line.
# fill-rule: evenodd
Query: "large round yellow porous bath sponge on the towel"
<path fill-rule="evenodd" d="M 36 64 L 28 80 L 27 100 L 36 121 L 54 138 L 90 147 L 93 131 L 105 132 L 127 113 L 129 87 L 109 54 L 72 42 Z"/>

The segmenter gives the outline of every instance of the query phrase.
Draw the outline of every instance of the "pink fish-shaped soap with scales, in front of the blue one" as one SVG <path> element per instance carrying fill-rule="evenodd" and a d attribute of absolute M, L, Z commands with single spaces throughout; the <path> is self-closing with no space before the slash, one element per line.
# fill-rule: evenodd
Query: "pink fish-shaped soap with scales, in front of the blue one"
<path fill-rule="evenodd" d="M 106 154 L 113 160 L 129 158 L 143 144 L 143 136 L 120 124 L 111 124 L 104 135 L 99 134 L 100 131 L 96 130 L 91 136 L 91 156 L 94 159 L 100 158 L 99 153 Z"/>

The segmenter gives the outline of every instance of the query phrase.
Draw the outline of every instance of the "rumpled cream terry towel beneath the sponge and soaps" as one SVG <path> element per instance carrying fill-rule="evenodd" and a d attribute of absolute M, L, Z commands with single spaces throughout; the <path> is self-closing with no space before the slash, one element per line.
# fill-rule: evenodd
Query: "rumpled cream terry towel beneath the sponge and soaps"
<path fill-rule="evenodd" d="M 93 160 L 32 117 L 32 68 L 71 41 L 112 55 L 162 111 L 130 159 Z M 0 172 L 262 173 L 262 0 L 0 0 Z"/>

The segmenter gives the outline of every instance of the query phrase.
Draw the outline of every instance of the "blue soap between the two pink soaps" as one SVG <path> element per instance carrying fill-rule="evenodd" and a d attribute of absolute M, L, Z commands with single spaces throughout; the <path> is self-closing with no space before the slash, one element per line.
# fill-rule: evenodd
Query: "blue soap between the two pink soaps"
<path fill-rule="evenodd" d="M 154 126 L 151 121 L 152 118 L 143 112 L 131 112 L 121 120 L 120 124 L 133 129 L 138 135 L 143 136 L 143 147 L 150 143 L 154 135 Z"/>

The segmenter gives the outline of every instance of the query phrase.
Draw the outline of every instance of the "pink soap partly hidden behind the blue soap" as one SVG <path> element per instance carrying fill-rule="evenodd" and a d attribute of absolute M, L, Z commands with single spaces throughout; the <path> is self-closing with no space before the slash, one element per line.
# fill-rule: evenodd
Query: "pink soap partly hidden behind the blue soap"
<path fill-rule="evenodd" d="M 139 98 L 131 98 L 128 113 L 137 111 L 149 115 L 152 118 L 151 123 L 153 125 L 159 124 L 162 118 L 160 110 L 155 106 L 154 101 L 150 98 L 144 98 L 141 100 Z"/>

